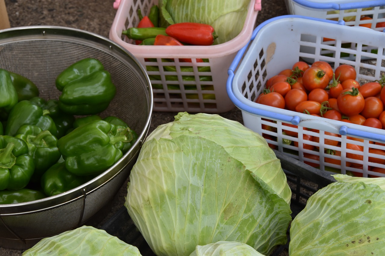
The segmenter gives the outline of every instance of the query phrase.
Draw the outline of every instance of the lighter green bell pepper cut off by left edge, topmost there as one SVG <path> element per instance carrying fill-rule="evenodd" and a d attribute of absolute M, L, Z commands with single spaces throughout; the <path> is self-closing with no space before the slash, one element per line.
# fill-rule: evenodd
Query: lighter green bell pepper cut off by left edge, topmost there
<path fill-rule="evenodd" d="M 11 75 L 5 69 L 0 69 L 0 85 L 0 118 L 5 120 L 18 101 Z"/>

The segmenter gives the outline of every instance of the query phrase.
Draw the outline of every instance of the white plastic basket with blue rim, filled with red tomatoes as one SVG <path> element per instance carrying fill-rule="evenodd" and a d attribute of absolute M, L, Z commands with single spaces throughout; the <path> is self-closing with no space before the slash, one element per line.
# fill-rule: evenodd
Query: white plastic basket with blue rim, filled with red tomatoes
<path fill-rule="evenodd" d="M 316 28 L 316 29 L 315 29 Z M 328 46 L 332 52 L 346 52 L 355 58 L 343 60 L 339 54 L 331 56 L 321 55 L 321 38 L 335 35 L 337 42 L 348 41 L 356 45 L 356 49 L 342 48 L 340 45 Z M 357 36 L 359 35 L 359 36 Z M 307 40 L 309 37 L 314 40 Z M 305 40 L 304 40 L 305 38 Z M 368 166 L 385 168 L 385 165 L 370 162 L 368 157 L 383 158 L 380 155 L 369 153 L 369 148 L 385 150 L 385 144 L 372 144 L 375 142 L 385 143 L 385 130 L 367 126 L 345 123 L 342 121 L 330 120 L 298 113 L 290 110 L 274 108 L 271 106 L 255 103 L 256 97 L 262 93 L 268 78 L 277 75 L 281 70 L 291 66 L 303 59 L 310 63 L 318 60 L 326 61 L 332 67 L 340 64 L 349 64 L 355 67 L 358 81 L 373 81 L 379 79 L 385 73 L 385 33 L 370 28 L 348 27 L 330 20 L 303 17 L 298 15 L 285 15 L 272 18 L 261 23 L 253 33 L 250 42 L 245 45 L 234 58 L 229 67 L 229 78 L 227 91 L 230 99 L 242 111 L 244 125 L 261 135 L 269 135 L 276 140 L 267 139 L 268 143 L 277 150 L 296 158 L 302 162 L 319 165 L 321 170 L 339 171 L 350 173 L 351 171 L 368 175 L 385 176 L 368 170 Z M 376 53 L 367 52 L 363 45 L 370 45 L 375 48 Z M 304 52 L 303 47 L 313 49 L 309 53 Z M 371 60 L 363 61 L 364 57 Z M 367 72 L 367 71 L 370 72 Z M 283 126 L 284 123 L 298 125 L 298 128 Z M 266 128 L 266 125 L 274 129 Z M 306 128 L 316 129 L 320 132 L 310 131 Z M 298 132 L 298 137 L 288 136 L 283 130 Z M 330 137 L 325 131 L 341 135 Z M 309 134 L 319 138 L 319 143 L 305 141 L 306 144 L 319 147 L 319 151 L 307 150 L 304 148 L 303 134 Z M 351 140 L 363 138 L 363 141 Z M 324 140 L 333 138 L 340 142 L 339 146 L 325 146 Z M 285 144 L 285 140 L 298 141 L 298 146 Z M 363 146 L 363 151 L 352 151 L 346 149 L 346 143 Z M 325 149 L 341 151 L 341 156 L 326 155 Z M 354 153 L 363 157 L 363 160 L 349 158 L 347 153 Z M 319 160 L 312 160 L 306 157 L 312 154 L 319 157 Z M 341 165 L 331 164 L 325 158 L 340 160 Z M 354 166 L 346 166 L 346 162 L 354 163 Z M 362 168 L 357 167 L 362 165 Z"/>

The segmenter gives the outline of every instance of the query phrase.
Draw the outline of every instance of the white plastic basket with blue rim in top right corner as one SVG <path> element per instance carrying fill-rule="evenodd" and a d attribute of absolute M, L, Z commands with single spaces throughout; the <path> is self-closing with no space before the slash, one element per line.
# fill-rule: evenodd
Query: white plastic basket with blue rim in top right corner
<path fill-rule="evenodd" d="M 372 17 L 372 29 L 379 22 L 385 22 L 385 0 L 285 0 L 289 14 L 303 15 L 326 20 L 345 20 L 348 26 L 359 26 L 368 23 L 360 20 L 362 16 Z"/>

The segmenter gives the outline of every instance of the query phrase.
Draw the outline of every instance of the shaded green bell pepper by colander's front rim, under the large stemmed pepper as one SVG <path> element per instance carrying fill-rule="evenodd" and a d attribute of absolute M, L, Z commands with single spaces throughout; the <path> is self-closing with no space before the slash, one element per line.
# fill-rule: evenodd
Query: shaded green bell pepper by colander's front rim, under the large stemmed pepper
<path fill-rule="evenodd" d="M 65 162 L 52 165 L 41 178 L 41 186 L 47 196 L 54 196 L 72 190 L 91 180 L 94 175 L 78 176 L 65 168 Z"/>

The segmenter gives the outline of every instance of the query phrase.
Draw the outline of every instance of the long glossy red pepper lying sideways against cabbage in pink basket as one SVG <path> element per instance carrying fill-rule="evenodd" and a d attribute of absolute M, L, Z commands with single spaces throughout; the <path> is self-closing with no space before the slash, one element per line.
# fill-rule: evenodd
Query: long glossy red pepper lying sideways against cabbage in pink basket
<path fill-rule="evenodd" d="M 191 45 L 212 45 L 217 35 L 208 24 L 181 22 L 169 25 L 166 34 Z"/>

